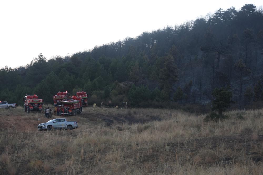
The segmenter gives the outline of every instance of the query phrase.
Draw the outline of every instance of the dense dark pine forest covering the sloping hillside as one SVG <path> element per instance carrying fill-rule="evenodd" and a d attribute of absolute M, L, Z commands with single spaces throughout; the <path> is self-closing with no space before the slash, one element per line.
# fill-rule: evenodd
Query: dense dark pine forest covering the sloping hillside
<path fill-rule="evenodd" d="M 25 67 L 6 66 L 0 100 L 21 105 L 25 94 L 37 94 L 52 103 L 58 91 L 84 90 L 89 104 L 204 105 L 213 89 L 230 86 L 235 106 L 244 107 L 263 100 L 262 71 L 263 10 L 245 4 L 71 56 L 39 54 Z"/>

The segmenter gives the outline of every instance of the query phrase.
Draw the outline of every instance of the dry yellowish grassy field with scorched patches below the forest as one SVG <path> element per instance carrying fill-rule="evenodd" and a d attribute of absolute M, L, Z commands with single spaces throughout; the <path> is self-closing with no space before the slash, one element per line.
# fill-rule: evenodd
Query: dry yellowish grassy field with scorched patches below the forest
<path fill-rule="evenodd" d="M 86 107 L 65 117 L 79 128 L 38 132 L 44 114 L 0 110 L 0 174 L 262 174 L 263 110 L 225 114 L 216 123 L 176 110 Z"/>

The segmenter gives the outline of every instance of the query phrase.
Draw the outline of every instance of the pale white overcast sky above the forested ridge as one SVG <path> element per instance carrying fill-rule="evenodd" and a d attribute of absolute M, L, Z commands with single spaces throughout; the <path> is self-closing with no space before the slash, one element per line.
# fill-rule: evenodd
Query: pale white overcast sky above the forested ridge
<path fill-rule="evenodd" d="M 0 68 L 25 66 L 39 53 L 47 60 L 72 55 L 250 3 L 263 5 L 262 0 L 0 1 Z"/>

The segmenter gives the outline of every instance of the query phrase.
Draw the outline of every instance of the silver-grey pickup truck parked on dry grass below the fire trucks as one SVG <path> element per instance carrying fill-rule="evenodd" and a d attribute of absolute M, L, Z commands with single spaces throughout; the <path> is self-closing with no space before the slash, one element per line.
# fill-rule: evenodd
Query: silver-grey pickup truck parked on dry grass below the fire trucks
<path fill-rule="evenodd" d="M 51 130 L 72 130 L 78 127 L 78 122 L 76 121 L 67 121 L 66 119 L 59 118 L 49 120 L 46 123 L 40 123 L 37 126 L 38 131 L 51 131 Z"/>

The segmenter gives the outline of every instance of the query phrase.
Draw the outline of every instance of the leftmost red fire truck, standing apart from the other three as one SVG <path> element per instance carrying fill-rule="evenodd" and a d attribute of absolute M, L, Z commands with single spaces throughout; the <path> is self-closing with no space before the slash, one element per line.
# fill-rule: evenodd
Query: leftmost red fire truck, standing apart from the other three
<path fill-rule="evenodd" d="M 43 100 L 39 99 L 37 95 L 27 95 L 23 98 L 24 110 L 29 113 L 30 111 L 42 111 Z"/>

